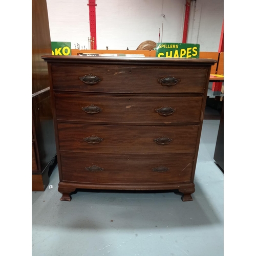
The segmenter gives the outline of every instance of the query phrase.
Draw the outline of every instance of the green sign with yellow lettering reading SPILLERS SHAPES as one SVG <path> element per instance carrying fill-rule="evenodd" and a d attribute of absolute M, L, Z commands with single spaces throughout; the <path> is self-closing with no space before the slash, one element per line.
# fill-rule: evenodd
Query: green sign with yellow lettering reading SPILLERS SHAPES
<path fill-rule="evenodd" d="M 199 58 L 198 44 L 178 44 L 176 42 L 158 42 L 156 57 L 164 58 Z"/>

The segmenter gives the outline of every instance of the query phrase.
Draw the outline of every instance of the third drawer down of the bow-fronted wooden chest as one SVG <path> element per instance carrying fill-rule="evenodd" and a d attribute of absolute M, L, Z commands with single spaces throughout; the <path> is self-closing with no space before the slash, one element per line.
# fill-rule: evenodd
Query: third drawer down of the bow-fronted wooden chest
<path fill-rule="evenodd" d="M 195 152 L 198 125 L 120 126 L 58 123 L 59 150 L 94 153 Z"/>

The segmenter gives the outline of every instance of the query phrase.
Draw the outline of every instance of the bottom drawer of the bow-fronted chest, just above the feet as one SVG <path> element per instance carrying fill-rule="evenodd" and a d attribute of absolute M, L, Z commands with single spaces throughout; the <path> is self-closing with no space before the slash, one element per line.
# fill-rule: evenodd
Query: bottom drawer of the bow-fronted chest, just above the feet
<path fill-rule="evenodd" d="M 62 181 L 108 184 L 189 182 L 194 154 L 61 154 Z"/>

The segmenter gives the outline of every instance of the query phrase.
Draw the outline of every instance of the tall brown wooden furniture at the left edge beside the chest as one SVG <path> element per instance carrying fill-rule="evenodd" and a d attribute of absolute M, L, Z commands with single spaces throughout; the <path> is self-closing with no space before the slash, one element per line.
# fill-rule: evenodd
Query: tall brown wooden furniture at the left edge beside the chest
<path fill-rule="evenodd" d="M 57 163 L 49 75 L 41 59 L 51 51 L 46 0 L 32 0 L 32 191 L 45 190 Z"/>

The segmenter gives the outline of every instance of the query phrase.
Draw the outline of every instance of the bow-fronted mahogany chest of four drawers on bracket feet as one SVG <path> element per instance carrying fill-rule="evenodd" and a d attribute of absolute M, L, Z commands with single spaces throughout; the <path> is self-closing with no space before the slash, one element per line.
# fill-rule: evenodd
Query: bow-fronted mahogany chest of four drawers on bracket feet
<path fill-rule="evenodd" d="M 191 201 L 214 59 L 51 56 L 61 200 L 77 188 L 178 189 Z"/>

